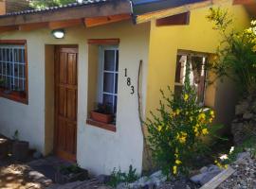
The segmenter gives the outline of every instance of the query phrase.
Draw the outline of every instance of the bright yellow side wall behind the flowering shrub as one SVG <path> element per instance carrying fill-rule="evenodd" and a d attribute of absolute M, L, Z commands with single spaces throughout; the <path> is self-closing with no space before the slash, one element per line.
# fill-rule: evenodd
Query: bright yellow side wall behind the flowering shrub
<path fill-rule="evenodd" d="M 243 29 L 248 26 L 247 11 L 242 6 L 232 6 L 231 1 L 226 1 L 220 7 L 229 9 L 230 14 L 234 16 L 233 26 L 235 28 Z M 154 111 L 158 107 L 159 89 L 166 90 L 169 85 L 174 90 L 175 62 L 178 49 L 210 54 L 215 52 L 220 42 L 220 35 L 212 29 L 212 24 L 206 18 L 209 9 L 192 10 L 191 21 L 188 26 L 157 27 L 155 21 L 152 21 L 146 107 L 148 116 L 150 116 L 150 111 Z M 215 88 L 215 86 L 218 87 Z M 237 97 L 236 94 L 233 94 L 235 92 L 233 87 L 225 86 L 228 86 L 227 82 L 224 85 L 220 82 L 216 83 L 208 90 L 206 97 L 209 105 L 219 112 L 217 119 L 221 123 L 227 123 L 230 120 L 233 114 L 230 109 L 234 108 Z M 226 90 L 224 90 L 225 88 Z M 227 100 L 227 96 L 230 96 L 230 101 Z"/>

